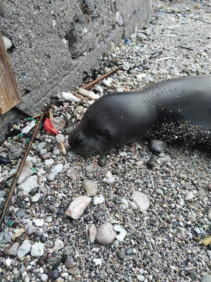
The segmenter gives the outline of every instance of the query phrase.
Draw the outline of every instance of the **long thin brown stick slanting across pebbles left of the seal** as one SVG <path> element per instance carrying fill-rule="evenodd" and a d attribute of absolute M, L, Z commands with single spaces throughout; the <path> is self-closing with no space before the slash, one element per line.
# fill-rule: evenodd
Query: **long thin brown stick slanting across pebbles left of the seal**
<path fill-rule="evenodd" d="M 41 122 L 42 122 L 42 120 L 43 120 L 43 118 L 44 118 L 44 116 L 46 115 L 47 112 L 48 112 L 48 109 L 47 109 L 47 108 L 44 108 L 43 113 L 42 113 L 42 115 L 41 115 L 41 117 L 40 117 L 40 119 L 39 119 L 39 122 L 37 123 L 36 128 L 34 129 L 34 132 L 33 132 L 33 135 L 32 135 L 32 137 L 31 137 L 31 140 L 30 140 L 30 142 L 29 142 L 29 144 L 28 144 L 28 146 L 27 146 L 27 148 L 26 148 L 26 150 L 25 150 L 25 152 L 24 152 L 24 156 L 23 156 L 23 158 L 22 158 L 22 160 L 21 160 L 21 162 L 20 162 L 20 164 L 19 164 L 19 167 L 18 167 L 18 169 L 17 169 L 17 172 L 16 172 L 15 177 L 14 177 L 14 179 L 13 179 L 13 182 L 12 182 L 12 184 L 11 184 L 11 188 L 10 188 L 9 193 L 8 193 L 8 195 L 7 195 L 7 198 L 6 198 L 6 200 L 5 200 L 5 203 L 4 203 L 2 212 L 1 212 L 1 214 L 0 214 L 0 217 L 1 217 L 1 219 L 0 219 L 0 228 L 1 228 L 1 226 L 2 226 L 2 223 L 3 223 L 3 221 L 4 221 L 5 215 L 6 215 L 6 213 L 7 213 L 7 209 L 8 209 L 8 207 L 9 207 L 9 205 L 10 205 L 11 197 L 12 197 L 12 195 L 13 195 L 13 193 L 14 193 L 15 186 L 16 186 L 16 184 L 17 184 L 17 180 L 18 180 L 18 178 L 19 178 L 19 176 L 20 176 L 20 173 L 21 173 L 21 171 L 22 171 L 22 169 L 23 169 L 23 167 L 24 167 L 24 164 L 25 164 L 27 155 L 29 154 L 29 151 L 30 151 L 30 149 L 31 149 L 33 140 L 34 140 L 34 138 L 36 137 L 37 131 L 38 131 L 38 129 L 39 129 L 39 125 L 41 124 Z"/>

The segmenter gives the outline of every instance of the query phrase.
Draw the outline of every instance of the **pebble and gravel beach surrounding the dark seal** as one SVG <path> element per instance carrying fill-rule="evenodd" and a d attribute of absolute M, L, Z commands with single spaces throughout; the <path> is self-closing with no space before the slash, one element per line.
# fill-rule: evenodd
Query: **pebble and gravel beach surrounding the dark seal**
<path fill-rule="evenodd" d="M 37 133 L 0 230 L 2 282 L 211 282 L 210 152 L 141 140 L 80 155 L 68 144 L 100 96 L 211 74 L 210 40 L 209 1 L 153 1 L 150 23 L 111 44 L 96 73 L 121 70 L 89 92 L 61 89 L 58 134 Z M 11 130 L 32 135 L 32 122 Z M 0 163 L 0 209 L 26 147 L 15 136 L 0 146 L 10 160 Z"/>

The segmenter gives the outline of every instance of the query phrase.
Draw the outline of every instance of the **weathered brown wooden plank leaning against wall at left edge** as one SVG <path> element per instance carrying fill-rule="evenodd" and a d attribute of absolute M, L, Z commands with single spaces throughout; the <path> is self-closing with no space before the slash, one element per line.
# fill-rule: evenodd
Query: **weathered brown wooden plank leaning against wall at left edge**
<path fill-rule="evenodd" d="M 22 102 L 7 50 L 0 32 L 0 114 Z"/>

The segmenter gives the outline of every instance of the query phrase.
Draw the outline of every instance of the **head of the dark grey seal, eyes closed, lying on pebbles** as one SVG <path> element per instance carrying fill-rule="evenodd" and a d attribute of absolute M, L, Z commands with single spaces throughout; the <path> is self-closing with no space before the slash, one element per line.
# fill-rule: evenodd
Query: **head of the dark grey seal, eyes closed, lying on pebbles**
<path fill-rule="evenodd" d="M 133 107 L 128 110 L 128 103 L 122 103 L 118 94 L 107 94 L 99 98 L 87 109 L 80 123 L 70 133 L 69 144 L 78 153 L 92 153 L 130 142 L 134 135 L 131 132 L 132 122 L 137 118 L 128 117 L 132 115 L 131 111 L 134 111 Z M 136 137 L 132 141 L 135 140 Z"/>

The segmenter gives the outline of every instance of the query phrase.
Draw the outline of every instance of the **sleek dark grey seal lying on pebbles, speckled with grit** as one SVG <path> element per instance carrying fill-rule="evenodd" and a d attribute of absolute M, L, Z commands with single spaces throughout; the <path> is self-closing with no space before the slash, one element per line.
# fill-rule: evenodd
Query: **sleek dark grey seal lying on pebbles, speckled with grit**
<path fill-rule="evenodd" d="M 200 75 L 102 96 L 87 109 L 68 141 L 78 153 L 104 151 L 142 138 L 210 145 L 210 131 L 211 75 Z"/>

